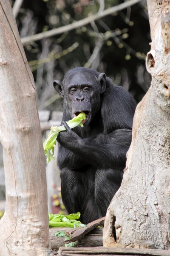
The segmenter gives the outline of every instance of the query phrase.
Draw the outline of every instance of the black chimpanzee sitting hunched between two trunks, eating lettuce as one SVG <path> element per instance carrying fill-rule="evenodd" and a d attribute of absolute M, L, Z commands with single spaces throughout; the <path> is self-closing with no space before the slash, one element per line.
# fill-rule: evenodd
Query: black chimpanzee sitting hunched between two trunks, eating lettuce
<path fill-rule="evenodd" d="M 87 224 L 105 216 L 119 189 L 131 143 L 134 99 L 105 73 L 77 67 L 63 81 L 54 81 L 63 101 L 58 166 L 61 194 L 68 213 L 80 212 Z M 65 121 L 86 114 L 84 127 L 70 129 Z"/>

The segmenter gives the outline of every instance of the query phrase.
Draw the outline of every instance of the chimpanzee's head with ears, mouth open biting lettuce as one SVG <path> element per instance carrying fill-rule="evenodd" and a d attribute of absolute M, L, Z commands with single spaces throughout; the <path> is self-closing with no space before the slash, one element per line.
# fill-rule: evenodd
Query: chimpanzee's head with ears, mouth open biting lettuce
<path fill-rule="evenodd" d="M 61 83 L 61 82 L 60 82 Z M 73 73 L 72 76 L 65 75 L 65 78 L 60 84 L 59 81 L 54 81 L 54 88 L 64 97 L 64 107 L 69 112 L 71 117 L 79 115 L 80 112 L 86 114 L 86 119 L 83 124 L 88 124 L 100 109 L 101 98 L 101 81 L 96 76 L 91 76 L 87 73 Z"/>

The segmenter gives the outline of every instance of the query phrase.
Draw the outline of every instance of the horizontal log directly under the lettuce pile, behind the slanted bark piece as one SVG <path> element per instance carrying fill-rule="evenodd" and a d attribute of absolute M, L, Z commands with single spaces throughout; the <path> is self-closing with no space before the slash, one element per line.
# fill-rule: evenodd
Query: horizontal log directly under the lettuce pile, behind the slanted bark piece
<path fill-rule="evenodd" d="M 52 227 L 50 230 L 50 242 L 51 242 L 51 249 L 58 250 L 59 247 L 64 246 L 65 244 L 65 237 L 57 237 L 55 233 L 57 231 L 62 231 L 67 234 L 72 233 L 74 230 L 73 228 L 59 228 L 59 227 Z M 103 228 L 95 228 L 91 230 L 84 238 L 75 242 L 77 247 L 97 247 L 103 245 Z"/>

